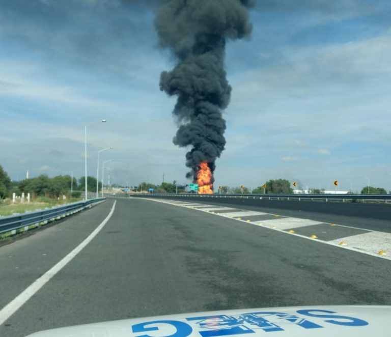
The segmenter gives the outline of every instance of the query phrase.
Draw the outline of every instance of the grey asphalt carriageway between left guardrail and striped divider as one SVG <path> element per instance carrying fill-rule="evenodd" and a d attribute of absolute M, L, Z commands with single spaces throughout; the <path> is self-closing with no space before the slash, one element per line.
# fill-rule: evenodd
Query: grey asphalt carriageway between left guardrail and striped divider
<path fill-rule="evenodd" d="M 113 203 L 0 247 L 0 308 L 83 241 Z M 102 231 L 0 336 L 228 308 L 390 305 L 390 263 L 197 210 L 118 200 Z"/>

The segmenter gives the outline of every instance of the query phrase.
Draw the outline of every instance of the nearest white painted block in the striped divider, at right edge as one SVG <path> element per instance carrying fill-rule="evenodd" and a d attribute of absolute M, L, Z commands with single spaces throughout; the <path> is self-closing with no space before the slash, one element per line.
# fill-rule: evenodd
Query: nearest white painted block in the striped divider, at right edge
<path fill-rule="evenodd" d="M 372 253 L 378 253 L 380 250 L 384 250 L 391 255 L 391 233 L 383 232 L 370 232 L 347 236 L 339 238 L 337 240 L 329 241 L 339 244 L 340 242 L 346 243 L 349 247 L 362 249 Z"/>

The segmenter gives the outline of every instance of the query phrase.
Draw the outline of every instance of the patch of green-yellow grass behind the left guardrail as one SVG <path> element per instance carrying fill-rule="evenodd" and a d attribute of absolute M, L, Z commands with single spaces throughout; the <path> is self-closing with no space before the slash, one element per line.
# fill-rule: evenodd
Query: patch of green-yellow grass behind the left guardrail
<path fill-rule="evenodd" d="M 71 198 L 66 200 L 57 200 L 54 198 L 35 198 L 30 203 L 15 203 L 13 204 L 11 200 L 7 199 L 0 203 L 0 216 L 9 216 L 13 214 L 20 214 L 25 212 L 37 211 L 43 208 L 50 208 L 54 206 L 70 204 L 77 201 L 81 201 L 79 198 Z"/>

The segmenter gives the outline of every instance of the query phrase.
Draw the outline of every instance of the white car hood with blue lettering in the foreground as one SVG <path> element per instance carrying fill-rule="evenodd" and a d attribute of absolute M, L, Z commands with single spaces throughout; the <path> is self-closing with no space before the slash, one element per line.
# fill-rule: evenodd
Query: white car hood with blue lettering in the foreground
<path fill-rule="evenodd" d="M 391 306 L 290 306 L 135 318 L 46 330 L 28 337 L 391 336 Z M 275 332 L 275 333 L 274 333 Z"/>

